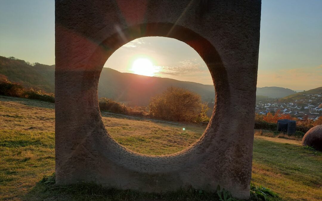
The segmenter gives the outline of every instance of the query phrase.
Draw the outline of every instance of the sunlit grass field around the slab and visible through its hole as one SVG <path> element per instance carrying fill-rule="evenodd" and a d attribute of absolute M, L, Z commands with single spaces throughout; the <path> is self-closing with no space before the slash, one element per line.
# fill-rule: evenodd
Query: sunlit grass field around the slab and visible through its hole
<path fill-rule="evenodd" d="M 198 139 L 205 128 L 105 112 L 102 117 L 120 144 L 154 155 L 182 150 Z M 48 190 L 40 182 L 44 175 L 54 172 L 54 122 L 54 104 L 0 96 L 0 200 L 108 198 L 96 191 L 85 195 L 72 187 L 70 191 Z M 322 153 L 302 147 L 300 141 L 256 135 L 252 182 L 271 188 L 283 200 L 322 200 Z M 116 200 L 124 200 L 122 193 L 116 193 Z M 137 194 L 130 194 L 142 200 Z"/>

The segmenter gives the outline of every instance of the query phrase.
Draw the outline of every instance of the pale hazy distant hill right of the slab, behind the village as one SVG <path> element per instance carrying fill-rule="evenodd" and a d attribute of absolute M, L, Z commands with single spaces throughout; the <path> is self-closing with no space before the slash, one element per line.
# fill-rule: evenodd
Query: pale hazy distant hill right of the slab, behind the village
<path fill-rule="evenodd" d="M 268 96 L 269 98 L 282 98 L 295 94 L 296 91 L 283 87 L 257 87 L 256 96 Z"/>

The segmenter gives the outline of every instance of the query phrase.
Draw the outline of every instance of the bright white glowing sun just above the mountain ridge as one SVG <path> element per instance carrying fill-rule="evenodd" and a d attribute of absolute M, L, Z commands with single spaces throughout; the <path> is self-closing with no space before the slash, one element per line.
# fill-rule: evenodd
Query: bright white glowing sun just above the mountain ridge
<path fill-rule="evenodd" d="M 156 66 L 153 66 L 153 63 L 146 58 L 139 58 L 133 61 L 132 69 L 135 74 L 145 75 L 145 76 L 154 76 L 155 73 L 159 72 Z"/>

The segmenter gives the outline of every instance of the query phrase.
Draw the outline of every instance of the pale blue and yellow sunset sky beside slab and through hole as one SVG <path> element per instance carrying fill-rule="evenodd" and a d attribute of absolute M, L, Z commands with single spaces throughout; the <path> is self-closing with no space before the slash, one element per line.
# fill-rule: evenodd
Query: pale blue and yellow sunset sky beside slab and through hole
<path fill-rule="evenodd" d="M 0 0 L 0 56 L 55 63 L 54 0 Z M 322 86 L 322 1 L 262 0 L 257 87 L 295 91 Z M 197 52 L 164 37 L 145 37 L 116 50 L 104 67 L 212 84 Z M 149 71 L 147 69 L 149 68 Z"/>

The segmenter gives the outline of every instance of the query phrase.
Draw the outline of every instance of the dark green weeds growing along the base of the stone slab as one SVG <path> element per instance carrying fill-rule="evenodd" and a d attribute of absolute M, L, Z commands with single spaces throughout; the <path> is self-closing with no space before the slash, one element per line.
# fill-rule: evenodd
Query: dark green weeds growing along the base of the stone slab
<path fill-rule="evenodd" d="M 44 192 L 52 199 L 60 200 L 60 197 L 71 200 L 185 200 L 185 201 L 239 201 L 232 198 L 229 191 L 217 187 L 216 193 L 208 193 L 201 189 L 189 188 L 188 190 L 179 189 L 168 193 L 142 193 L 134 190 L 118 190 L 115 188 L 104 188 L 94 183 L 77 183 L 68 186 L 55 185 L 55 173 L 44 176 L 38 185 L 44 186 Z M 251 184 L 251 201 L 270 201 L 281 200 L 277 193 L 268 188 Z"/>

